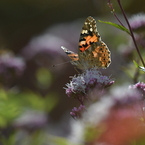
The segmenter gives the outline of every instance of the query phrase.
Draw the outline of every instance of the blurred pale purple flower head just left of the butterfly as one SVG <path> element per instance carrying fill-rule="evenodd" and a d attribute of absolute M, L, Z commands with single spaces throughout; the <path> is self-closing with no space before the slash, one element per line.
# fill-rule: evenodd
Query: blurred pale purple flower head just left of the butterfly
<path fill-rule="evenodd" d="M 62 44 L 69 46 L 63 39 L 57 36 L 44 34 L 42 36 L 33 38 L 28 46 L 22 50 L 21 54 L 27 60 L 36 56 L 44 57 L 45 55 L 46 57 L 49 56 L 50 60 L 53 60 L 54 57 L 60 57 L 60 55 L 63 54 L 60 48 Z"/>

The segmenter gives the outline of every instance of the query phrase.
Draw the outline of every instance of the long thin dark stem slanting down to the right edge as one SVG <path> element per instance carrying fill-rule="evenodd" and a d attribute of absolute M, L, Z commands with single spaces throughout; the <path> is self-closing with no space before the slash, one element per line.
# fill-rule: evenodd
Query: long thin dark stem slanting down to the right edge
<path fill-rule="evenodd" d="M 126 17 L 126 14 L 125 14 L 124 9 L 123 9 L 123 7 L 122 7 L 122 5 L 121 5 L 121 2 L 120 2 L 120 0 L 117 0 L 117 2 L 118 2 L 118 4 L 119 4 L 120 9 L 121 9 L 121 11 L 122 11 L 122 13 L 123 13 L 123 16 L 124 16 L 124 18 L 125 18 L 125 20 L 126 20 L 126 22 L 127 22 L 127 25 L 128 25 L 128 28 L 129 28 L 129 31 L 130 31 L 132 40 L 133 40 L 133 42 L 134 42 L 134 45 L 135 45 L 135 47 L 136 47 L 137 53 L 138 53 L 138 55 L 139 55 L 139 57 L 140 57 L 140 59 L 141 59 L 141 62 L 142 62 L 142 64 L 143 64 L 143 66 L 145 67 L 144 60 L 143 60 L 143 58 L 142 58 L 142 56 L 141 56 L 141 53 L 140 53 L 139 48 L 138 48 L 138 46 L 137 46 L 137 43 L 136 43 L 136 41 L 135 41 L 135 37 L 134 37 L 133 31 L 132 31 L 132 29 L 131 29 L 131 27 L 130 27 L 129 21 L 128 21 L 127 17 Z"/>

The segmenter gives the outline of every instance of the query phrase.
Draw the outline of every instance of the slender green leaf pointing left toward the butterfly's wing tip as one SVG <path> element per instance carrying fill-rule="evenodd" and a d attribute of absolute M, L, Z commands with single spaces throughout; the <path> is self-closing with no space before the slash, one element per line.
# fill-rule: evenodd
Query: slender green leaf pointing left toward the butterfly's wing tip
<path fill-rule="evenodd" d="M 105 24 L 109 24 L 111 26 L 114 26 L 114 27 L 116 27 L 116 28 L 118 28 L 118 29 L 120 29 L 122 31 L 125 31 L 126 33 L 128 33 L 130 35 L 129 30 L 126 27 L 122 26 L 122 25 L 119 25 L 119 24 L 116 24 L 116 23 L 112 23 L 112 22 L 107 22 L 107 21 L 101 21 L 101 20 L 98 20 L 98 21 L 101 22 L 101 23 L 105 23 Z"/>

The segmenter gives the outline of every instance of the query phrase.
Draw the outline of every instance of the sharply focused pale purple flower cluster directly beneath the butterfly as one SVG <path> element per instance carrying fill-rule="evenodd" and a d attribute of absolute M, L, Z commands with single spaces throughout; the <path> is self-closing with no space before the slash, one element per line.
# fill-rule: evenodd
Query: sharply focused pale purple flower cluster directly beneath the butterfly
<path fill-rule="evenodd" d="M 91 90 L 104 88 L 114 83 L 109 77 L 103 76 L 97 69 L 85 70 L 82 74 L 72 77 L 70 83 L 66 84 L 66 94 L 68 97 L 78 99 L 81 104 L 87 99 L 87 93 Z"/>

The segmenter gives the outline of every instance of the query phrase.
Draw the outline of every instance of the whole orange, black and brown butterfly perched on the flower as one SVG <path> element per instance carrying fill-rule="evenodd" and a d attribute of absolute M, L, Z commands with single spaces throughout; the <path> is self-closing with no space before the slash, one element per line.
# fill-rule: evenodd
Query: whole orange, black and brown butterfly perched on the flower
<path fill-rule="evenodd" d="M 89 16 L 82 27 L 79 38 L 78 54 L 61 46 L 78 69 L 107 68 L 111 63 L 111 52 L 101 40 L 96 21 Z"/>

